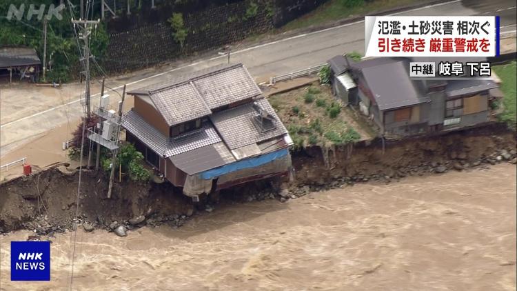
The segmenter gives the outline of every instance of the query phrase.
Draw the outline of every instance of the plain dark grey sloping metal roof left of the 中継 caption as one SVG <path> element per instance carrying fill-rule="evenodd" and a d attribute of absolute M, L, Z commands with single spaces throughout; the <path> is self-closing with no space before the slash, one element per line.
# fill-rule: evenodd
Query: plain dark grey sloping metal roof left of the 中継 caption
<path fill-rule="evenodd" d="M 420 97 L 403 61 L 391 61 L 363 68 L 363 76 L 379 110 L 412 106 L 426 101 Z"/>

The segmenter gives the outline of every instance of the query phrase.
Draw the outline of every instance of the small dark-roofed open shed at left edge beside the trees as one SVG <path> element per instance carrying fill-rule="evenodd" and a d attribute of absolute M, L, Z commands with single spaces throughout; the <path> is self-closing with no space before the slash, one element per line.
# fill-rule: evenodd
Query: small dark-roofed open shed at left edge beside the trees
<path fill-rule="evenodd" d="M 19 77 L 37 81 L 41 68 L 39 59 L 34 48 L 27 47 L 0 47 L 0 77 Z"/>

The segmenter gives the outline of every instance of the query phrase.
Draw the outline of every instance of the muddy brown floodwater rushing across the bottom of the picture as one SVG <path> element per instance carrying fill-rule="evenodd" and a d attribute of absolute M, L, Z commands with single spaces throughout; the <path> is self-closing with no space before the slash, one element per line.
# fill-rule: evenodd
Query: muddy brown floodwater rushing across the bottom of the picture
<path fill-rule="evenodd" d="M 66 290 L 71 232 L 53 239 L 52 281 L 10 281 L 9 243 L 27 237 L 1 237 L 1 290 Z M 515 290 L 515 263 L 505 164 L 219 205 L 125 238 L 79 230 L 72 290 Z"/>

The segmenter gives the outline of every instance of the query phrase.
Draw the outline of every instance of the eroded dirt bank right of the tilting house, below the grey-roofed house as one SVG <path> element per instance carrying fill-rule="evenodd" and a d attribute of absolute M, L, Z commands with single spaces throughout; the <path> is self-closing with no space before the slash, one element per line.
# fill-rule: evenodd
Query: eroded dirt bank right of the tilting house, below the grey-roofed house
<path fill-rule="evenodd" d="M 516 156 L 515 132 L 487 126 L 464 132 L 401 141 L 377 139 L 354 146 L 330 149 L 318 146 L 293 154 L 296 183 L 325 185 L 335 179 L 389 180 L 413 174 L 462 170 L 482 163 L 499 162 L 501 153 Z"/>

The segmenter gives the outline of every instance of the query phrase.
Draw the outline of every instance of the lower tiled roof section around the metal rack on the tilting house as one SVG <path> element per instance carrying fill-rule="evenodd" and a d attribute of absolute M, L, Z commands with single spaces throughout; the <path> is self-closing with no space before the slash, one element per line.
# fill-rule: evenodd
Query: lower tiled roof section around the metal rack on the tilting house
<path fill-rule="evenodd" d="M 271 114 L 276 121 L 276 128 L 268 132 L 262 132 L 255 126 L 252 118 L 256 116 L 256 111 L 252 108 L 253 103 L 247 103 L 236 108 L 231 108 L 213 114 L 210 119 L 219 134 L 230 150 L 242 148 L 245 145 L 258 143 L 267 139 L 272 139 L 287 133 L 280 119 L 265 99 L 255 101 L 267 113 Z"/>

